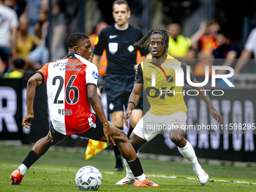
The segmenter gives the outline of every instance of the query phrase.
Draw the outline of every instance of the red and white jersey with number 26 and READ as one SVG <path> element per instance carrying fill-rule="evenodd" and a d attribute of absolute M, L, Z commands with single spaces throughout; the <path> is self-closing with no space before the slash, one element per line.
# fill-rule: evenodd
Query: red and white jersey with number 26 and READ
<path fill-rule="evenodd" d="M 96 127 L 96 117 L 90 111 L 87 85 L 97 86 L 97 67 L 70 53 L 63 59 L 48 62 L 37 71 L 47 83 L 48 107 L 54 130 L 64 135 L 84 133 Z"/>

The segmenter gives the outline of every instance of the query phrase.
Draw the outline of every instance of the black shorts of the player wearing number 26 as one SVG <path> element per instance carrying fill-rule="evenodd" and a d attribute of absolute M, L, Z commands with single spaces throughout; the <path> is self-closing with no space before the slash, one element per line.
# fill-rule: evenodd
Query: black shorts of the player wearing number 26
<path fill-rule="evenodd" d="M 96 141 L 99 141 L 99 139 L 102 139 L 102 136 L 104 135 L 103 132 L 103 126 L 102 123 L 100 122 L 99 118 L 97 117 L 96 114 L 94 114 L 96 116 L 96 128 L 90 128 L 90 130 L 87 130 L 84 133 L 81 134 L 75 134 L 77 136 L 82 136 L 82 137 L 87 137 Z M 56 130 L 54 130 L 53 128 L 53 124 L 50 122 L 50 133 L 51 136 L 53 137 L 53 142 L 59 142 L 60 140 L 64 139 L 66 137 L 66 135 L 63 135 L 62 133 L 57 132 Z"/>

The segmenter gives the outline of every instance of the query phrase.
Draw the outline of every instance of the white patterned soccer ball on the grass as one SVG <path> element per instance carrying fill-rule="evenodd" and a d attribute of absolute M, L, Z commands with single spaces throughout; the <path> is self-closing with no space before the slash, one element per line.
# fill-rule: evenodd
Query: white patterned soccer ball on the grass
<path fill-rule="evenodd" d="M 97 190 L 102 184 L 102 174 L 94 166 L 83 166 L 75 175 L 75 183 L 81 190 Z"/>

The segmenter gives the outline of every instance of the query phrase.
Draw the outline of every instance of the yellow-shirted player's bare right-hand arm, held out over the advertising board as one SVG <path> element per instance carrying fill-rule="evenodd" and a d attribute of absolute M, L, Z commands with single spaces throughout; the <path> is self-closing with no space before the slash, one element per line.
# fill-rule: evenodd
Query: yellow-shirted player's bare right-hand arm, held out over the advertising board
<path fill-rule="evenodd" d="M 198 83 L 196 79 L 194 79 L 193 82 Z M 218 123 L 223 123 L 223 118 L 221 117 L 220 112 L 212 104 L 212 101 L 209 98 L 208 94 L 206 93 L 206 90 L 203 87 L 192 87 L 192 88 L 198 91 L 198 96 L 200 96 L 200 99 L 202 99 L 206 103 L 206 105 L 210 108 L 210 113 L 212 117 L 214 117 L 215 120 L 218 121 Z"/>

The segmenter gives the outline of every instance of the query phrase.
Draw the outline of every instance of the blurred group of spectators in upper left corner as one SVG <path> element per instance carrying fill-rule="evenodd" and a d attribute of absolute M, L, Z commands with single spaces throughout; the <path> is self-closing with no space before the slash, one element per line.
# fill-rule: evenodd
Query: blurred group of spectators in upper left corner
<path fill-rule="evenodd" d="M 47 0 L 0 0 L 0 75 L 23 78 L 48 62 Z"/>

